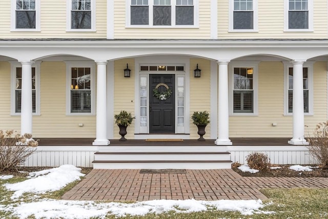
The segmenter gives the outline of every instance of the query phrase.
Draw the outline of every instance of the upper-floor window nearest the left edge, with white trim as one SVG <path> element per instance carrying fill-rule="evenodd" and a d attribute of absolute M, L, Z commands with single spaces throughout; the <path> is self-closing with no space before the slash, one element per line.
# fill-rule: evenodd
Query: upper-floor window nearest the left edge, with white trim
<path fill-rule="evenodd" d="M 39 17 L 39 0 L 12 1 L 12 30 L 38 31 Z"/>

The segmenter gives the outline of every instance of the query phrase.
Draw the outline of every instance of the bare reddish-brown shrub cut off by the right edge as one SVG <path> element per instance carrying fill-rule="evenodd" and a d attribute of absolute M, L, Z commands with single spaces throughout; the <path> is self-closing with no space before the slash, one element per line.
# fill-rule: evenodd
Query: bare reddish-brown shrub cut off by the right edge
<path fill-rule="evenodd" d="M 307 146 L 311 155 L 313 155 L 323 169 L 328 169 L 328 121 L 318 123 L 313 136 L 306 139 L 309 142 Z"/>

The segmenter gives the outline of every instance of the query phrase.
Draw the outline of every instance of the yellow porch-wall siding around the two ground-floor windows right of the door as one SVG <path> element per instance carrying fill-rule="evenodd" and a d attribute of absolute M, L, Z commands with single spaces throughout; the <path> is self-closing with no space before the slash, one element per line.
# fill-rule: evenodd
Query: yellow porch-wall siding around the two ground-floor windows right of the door
<path fill-rule="evenodd" d="M 305 136 L 327 116 L 326 63 L 315 63 L 314 72 L 314 115 L 304 118 Z M 283 64 L 261 62 L 258 79 L 258 116 L 230 116 L 230 137 L 292 137 L 293 116 L 283 115 Z"/>

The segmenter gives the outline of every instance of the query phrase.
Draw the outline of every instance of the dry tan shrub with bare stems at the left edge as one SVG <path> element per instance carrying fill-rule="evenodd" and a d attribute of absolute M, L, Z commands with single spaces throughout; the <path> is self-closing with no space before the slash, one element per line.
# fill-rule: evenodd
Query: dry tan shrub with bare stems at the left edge
<path fill-rule="evenodd" d="M 13 133 L 13 130 L 0 130 L 0 172 L 23 164 L 38 146 L 31 134 Z"/>

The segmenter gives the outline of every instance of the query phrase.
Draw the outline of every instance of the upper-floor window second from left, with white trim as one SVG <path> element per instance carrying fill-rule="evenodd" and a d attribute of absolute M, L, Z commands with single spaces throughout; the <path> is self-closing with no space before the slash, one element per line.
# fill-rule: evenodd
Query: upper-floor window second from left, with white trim
<path fill-rule="evenodd" d="M 94 0 L 68 0 L 70 11 L 68 12 L 69 31 L 94 31 L 95 6 Z"/>

